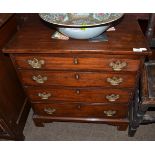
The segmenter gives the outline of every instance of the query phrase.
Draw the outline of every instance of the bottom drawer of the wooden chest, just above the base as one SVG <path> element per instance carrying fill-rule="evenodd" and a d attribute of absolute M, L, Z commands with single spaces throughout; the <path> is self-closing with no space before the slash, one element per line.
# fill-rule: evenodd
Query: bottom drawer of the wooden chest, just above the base
<path fill-rule="evenodd" d="M 53 117 L 125 118 L 128 115 L 127 105 L 35 103 L 33 107 L 35 114 Z"/>

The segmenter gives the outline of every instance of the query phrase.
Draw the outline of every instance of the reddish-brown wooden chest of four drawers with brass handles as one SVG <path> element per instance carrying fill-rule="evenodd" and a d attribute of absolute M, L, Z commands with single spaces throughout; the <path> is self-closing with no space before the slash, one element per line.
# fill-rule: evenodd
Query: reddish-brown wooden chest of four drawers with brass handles
<path fill-rule="evenodd" d="M 126 130 L 130 103 L 150 51 L 134 17 L 125 15 L 115 28 L 106 32 L 106 42 L 54 40 L 55 30 L 35 14 L 3 49 L 31 101 L 37 126 L 100 122 Z"/>

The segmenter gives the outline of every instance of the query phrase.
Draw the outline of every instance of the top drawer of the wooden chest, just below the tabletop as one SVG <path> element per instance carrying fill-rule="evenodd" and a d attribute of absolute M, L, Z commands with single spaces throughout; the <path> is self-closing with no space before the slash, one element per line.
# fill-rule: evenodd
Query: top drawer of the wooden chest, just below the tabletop
<path fill-rule="evenodd" d="M 82 57 L 82 56 L 14 56 L 18 68 L 50 70 L 106 70 L 137 71 L 140 60 L 121 56 Z"/>

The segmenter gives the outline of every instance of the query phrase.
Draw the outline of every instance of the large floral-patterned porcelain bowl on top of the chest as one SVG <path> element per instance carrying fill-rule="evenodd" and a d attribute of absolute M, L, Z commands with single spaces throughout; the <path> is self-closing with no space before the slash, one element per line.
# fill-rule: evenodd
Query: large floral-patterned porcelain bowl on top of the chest
<path fill-rule="evenodd" d="M 68 37 L 89 39 L 106 31 L 123 13 L 40 13 L 39 16 Z"/>

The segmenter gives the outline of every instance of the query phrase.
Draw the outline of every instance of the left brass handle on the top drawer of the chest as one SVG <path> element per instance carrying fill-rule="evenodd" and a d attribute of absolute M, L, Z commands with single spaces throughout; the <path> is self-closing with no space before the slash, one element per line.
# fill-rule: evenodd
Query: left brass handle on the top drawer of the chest
<path fill-rule="evenodd" d="M 45 64 L 44 60 L 38 60 L 36 58 L 33 58 L 33 60 L 28 60 L 27 62 L 32 68 L 41 68 L 42 65 Z"/>

